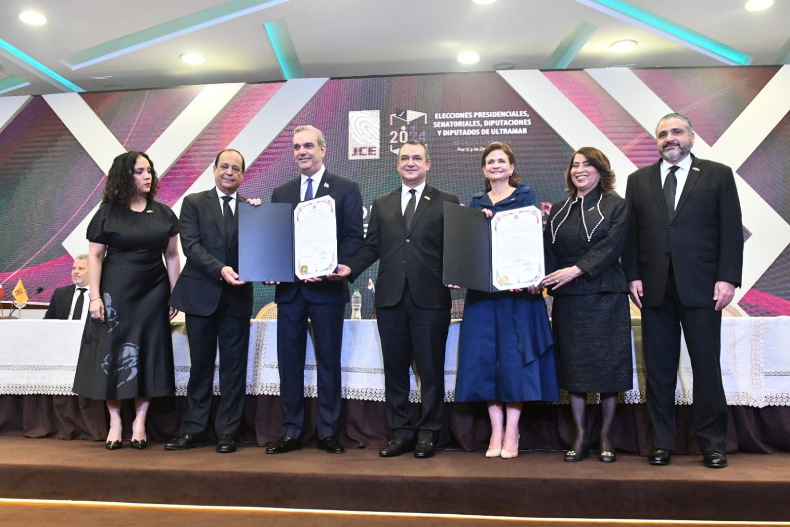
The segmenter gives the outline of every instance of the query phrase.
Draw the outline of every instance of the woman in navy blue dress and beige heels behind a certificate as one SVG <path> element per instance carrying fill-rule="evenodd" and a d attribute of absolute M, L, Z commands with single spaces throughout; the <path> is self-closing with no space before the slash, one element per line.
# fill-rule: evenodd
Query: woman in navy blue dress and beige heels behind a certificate
<path fill-rule="evenodd" d="M 510 146 L 488 145 L 481 167 L 487 191 L 472 196 L 472 209 L 491 217 L 538 204 L 535 192 L 521 184 Z M 488 403 L 491 441 L 486 457 L 517 457 L 523 402 L 559 401 L 551 326 L 542 295 L 521 289 L 468 290 L 455 390 L 456 401 Z"/>

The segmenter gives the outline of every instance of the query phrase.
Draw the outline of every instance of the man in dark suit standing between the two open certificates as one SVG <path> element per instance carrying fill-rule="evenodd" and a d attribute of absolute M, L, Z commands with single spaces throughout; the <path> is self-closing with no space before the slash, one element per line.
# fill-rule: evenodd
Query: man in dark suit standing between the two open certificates
<path fill-rule="evenodd" d="M 425 183 L 431 159 L 419 141 L 398 152 L 401 187 L 373 204 L 362 250 L 333 277 L 354 280 L 376 260 L 376 314 L 384 356 L 387 423 L 394 437 L 378 454 L 432 457 L 442 427 L 450 290 L 442 284 L 444 203 L 458 198 Z M 423 415 L 412 423 L 408 368 L 416 362 Z M 415 437 L 416 429 L 416 437 Z"/>

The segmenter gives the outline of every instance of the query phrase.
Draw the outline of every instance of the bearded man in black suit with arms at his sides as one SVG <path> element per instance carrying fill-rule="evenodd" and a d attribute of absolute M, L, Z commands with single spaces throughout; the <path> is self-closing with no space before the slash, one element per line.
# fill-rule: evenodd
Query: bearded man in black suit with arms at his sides
<path fill-rule="evenodd" d="M 668 465 L 675 445 L 680 329 L 694 373 L 694 431 L 703 463 L 727 466 L 727 400 L 721 382 L 721 310 L 743 267 L 743 227 L 732 169 L 694 157 L 685 115 L 656 127 L 662 160 L 628 178 L 629 235 L 623 268 L 641 307 L 651 465 Z"/>

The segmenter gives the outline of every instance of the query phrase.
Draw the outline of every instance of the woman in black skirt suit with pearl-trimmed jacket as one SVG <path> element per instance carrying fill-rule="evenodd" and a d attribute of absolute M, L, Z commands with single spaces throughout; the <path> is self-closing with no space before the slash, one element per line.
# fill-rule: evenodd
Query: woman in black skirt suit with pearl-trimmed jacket
<path fill-rule="evenodd" d="M 620 265 L 626 240 L 626 201 L 614 191 L 615 174 L 598 149 L 574 152 L 565 173 L 570 195 L 551 206 L 544 230 L 544 284 L 554 296 L 551 320 L 559 386 L 568 390 L 576 439 L 565 461 L 589 455 L 587 393 L 600 393 L 599 460 L 617 460 L 611 439 L 617 393 L 630 390 L 628 284 Z"/>

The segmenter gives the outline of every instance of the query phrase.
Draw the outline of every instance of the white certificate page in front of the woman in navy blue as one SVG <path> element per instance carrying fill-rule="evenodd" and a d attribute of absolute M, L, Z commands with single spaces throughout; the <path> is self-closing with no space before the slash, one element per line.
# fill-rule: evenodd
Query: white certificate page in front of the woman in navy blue
<path fill-rule="evenodd" d="M 499 291 L 523 289 L 544 279 L 543 216 L 535 206 L 491 218 L 491 275 Z"/>

